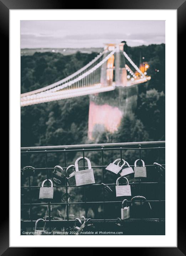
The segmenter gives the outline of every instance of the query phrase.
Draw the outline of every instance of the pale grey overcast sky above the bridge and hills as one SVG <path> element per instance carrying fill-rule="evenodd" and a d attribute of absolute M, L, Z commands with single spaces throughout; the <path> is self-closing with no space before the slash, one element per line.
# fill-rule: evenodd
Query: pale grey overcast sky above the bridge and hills
<path fill-rule="evenodd" d="M 164 20 L 22 20 L 21 48 L 89 48 L 125 40 L 165 43 Z"/>

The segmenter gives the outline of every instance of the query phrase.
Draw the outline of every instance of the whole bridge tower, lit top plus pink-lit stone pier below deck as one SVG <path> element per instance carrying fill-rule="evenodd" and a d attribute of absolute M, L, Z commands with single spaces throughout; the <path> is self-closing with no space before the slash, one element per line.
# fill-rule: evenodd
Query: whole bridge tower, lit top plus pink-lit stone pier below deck
<path fill-rule="evenodd" d="M 116 49 L 107 62 L 102 65 L 100 83 L 114 85 L 115 90 L 91 94 L 89 104 L 88 138 L 94 143 L 105 131 L 118 130 L 122 117 L 134 111 L 137 104 L 138 87 L 127 86 L 127 72 L 123 54 L 125 43 L 105 44 L 104 56 Z"/>

